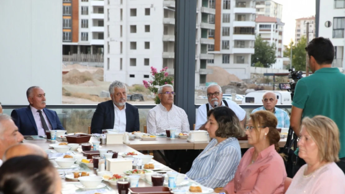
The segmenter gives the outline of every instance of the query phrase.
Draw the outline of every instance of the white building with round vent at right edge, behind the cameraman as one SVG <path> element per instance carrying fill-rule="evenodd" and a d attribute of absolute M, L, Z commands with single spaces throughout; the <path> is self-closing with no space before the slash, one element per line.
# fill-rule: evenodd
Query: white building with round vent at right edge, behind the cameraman
<path fill-rule="evenodd" d="M 316 36 L 332 41 L 335 51 L 333 67 L 344 68 L 345 1 L 317 0 L 316 10 Z"/>

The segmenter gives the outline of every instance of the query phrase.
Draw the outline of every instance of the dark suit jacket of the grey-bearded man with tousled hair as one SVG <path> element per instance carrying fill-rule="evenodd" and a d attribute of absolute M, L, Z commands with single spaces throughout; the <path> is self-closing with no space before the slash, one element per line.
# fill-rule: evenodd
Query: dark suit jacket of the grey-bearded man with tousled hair
<path fill-rule="evenodd" d="M 113 129 L 115 122 L 114 103 L 109 100 L 97 105 L 91 120 L 91 132 L 102 133 L 102 129 Z M 139 111 L 126 103 L 126 132 L 140 131 Z"/>

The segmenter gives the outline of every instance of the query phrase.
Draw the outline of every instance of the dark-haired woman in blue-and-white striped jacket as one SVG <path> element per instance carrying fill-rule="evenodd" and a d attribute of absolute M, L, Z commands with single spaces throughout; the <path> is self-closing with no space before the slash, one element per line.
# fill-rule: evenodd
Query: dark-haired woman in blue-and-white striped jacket
<path fill-rule="evenodd" d="M 207 187 L 224 187 L 234 178 L 241 160 L 237 137 L 242 137 L 244 130 L 234 111 L 227 106 L 211 109 L 207 117 L 205 129 L 213 140 L 194 160 L 186 175 Z"/>

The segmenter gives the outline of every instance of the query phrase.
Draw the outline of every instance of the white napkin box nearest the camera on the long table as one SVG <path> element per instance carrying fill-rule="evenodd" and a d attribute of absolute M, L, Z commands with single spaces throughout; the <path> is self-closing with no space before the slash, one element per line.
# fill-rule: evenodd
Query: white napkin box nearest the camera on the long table
<path fill-rule="evenodd" d="M 124 174 L 125 171 L 132 170 L 133 161 L 126 158 L 107 159 L 107 171 L 112 174 Z"/>

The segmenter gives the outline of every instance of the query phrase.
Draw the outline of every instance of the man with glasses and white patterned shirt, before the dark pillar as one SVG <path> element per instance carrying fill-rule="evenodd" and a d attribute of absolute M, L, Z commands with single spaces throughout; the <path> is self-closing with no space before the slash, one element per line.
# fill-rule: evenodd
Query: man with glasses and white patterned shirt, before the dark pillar
<path fill-rule="evenodd" d="M 185 110 L 174 105 L 174 88 L 170 84 L 158 89 L 160 104 L 149 110 L 146 118 L 148 133 L 165 133 L 165 129 L 173 128 L 178 133 L 189 132 L 188 116 Z"/>

